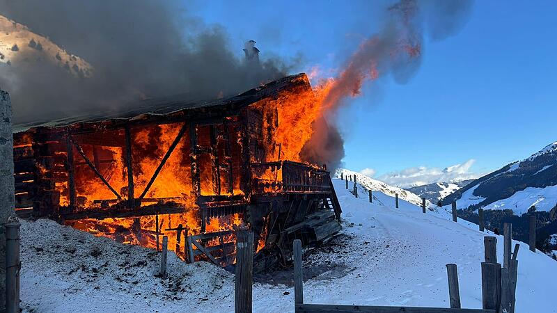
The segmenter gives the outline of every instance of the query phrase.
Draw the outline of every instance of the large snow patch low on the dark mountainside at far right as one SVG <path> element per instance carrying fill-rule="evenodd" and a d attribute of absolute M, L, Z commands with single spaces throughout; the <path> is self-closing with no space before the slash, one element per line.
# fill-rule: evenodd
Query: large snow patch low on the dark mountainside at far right
<path fill-rule="evenodd" d="M 509 198 L 497 200 L 484 207 L 486 210 L 512 209 L 515 215 L 524 214 L 535 205 L 536 211 L 550 211 L 557 205 L 557 186 L 528 187 Z"/>

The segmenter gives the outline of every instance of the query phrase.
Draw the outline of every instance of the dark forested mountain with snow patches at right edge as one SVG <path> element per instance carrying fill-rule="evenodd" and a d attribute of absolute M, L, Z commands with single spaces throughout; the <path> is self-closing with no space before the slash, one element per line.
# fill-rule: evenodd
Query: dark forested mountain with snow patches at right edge
<path fill-rule="evenodd" d="M 512 209 L 524 214 L 530 207 L 550 211 L 557 205 L 557 142 L 522 161 L 510 163 L 448 195 L 443 205 L 457 201 L 459 209 Z"/>

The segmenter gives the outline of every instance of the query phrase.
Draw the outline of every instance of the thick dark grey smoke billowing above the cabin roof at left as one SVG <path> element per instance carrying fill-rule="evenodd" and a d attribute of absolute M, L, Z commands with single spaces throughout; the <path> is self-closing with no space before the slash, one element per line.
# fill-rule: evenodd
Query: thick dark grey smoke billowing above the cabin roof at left
<path fill-rule="evenodd" d="M 0 63 L 0 86 L 14 99 L 15 122 L 118 110 L 163 95 L 216 98 L 285 76 L 278 60 L 237 58 L 226 31 L 204 25 L 177 3 L 0 0 L 1 15 L 43 38 L 31 38 L 25 42 L 31 49 L 19 45 L 10 64 Z M 44 38 L 70 59 L 58 52 L 49 58 Z"/>

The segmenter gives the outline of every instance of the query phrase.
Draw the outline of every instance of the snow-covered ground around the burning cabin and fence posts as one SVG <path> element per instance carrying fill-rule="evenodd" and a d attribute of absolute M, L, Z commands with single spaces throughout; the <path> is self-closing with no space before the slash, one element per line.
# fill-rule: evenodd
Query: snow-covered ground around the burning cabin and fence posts
<path fill-rule="evenodd" d="M 370 204 L 340 179 L 334 184 L 344 229 L 304 253 L 304 302 L 448 307 L 445 264 L 455 263 L 462 306 L 481 307 L 485 233 L 477 225 L 453 223 L 444 210 L 423 214 L 402 199 L 395 209 L 394 199 L 379 191 Z M 521 246 L 517 312 L 557 312 L 557 262 Z M 502 236 L 498 252 L 501 260 Z M 233 312 L 233 275 L 169 253 L 169 278 L 161 280 L 154 277 L 158 260 L 152 250 L 49 220 L 24 221 L 22 306 L 27 312 Z M 293 309 L 291 284 L 254 284 L 253 312 Z"/>

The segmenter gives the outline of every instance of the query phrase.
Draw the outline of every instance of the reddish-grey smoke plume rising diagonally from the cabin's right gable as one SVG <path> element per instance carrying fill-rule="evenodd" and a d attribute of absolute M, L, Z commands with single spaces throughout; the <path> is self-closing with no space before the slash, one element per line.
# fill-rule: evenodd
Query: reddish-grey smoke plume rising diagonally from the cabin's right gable
<path fill-rule="evenodd" d="M 386 77 L 397 83 L 409 81 L 421 64 L 423 38 L 442 40 L 460 31 L 472 4 L 471 0 L 402 0 L 389 6 L 382 29 L 361 42 L 336 78 L 320 83 L 322 106 L 333 124 L 324 127 L 324 120 L 315 122 L 314 129 L 327 131 L 315 131 L 304 147 L 306 157 L 319 158 L 334 169 L 344 157 L 344 141 L 331 117 L 347 99 L 359 96 L 368 81 Z"/>

